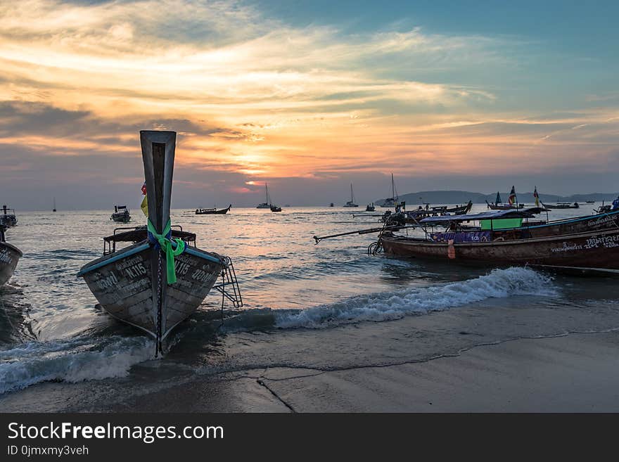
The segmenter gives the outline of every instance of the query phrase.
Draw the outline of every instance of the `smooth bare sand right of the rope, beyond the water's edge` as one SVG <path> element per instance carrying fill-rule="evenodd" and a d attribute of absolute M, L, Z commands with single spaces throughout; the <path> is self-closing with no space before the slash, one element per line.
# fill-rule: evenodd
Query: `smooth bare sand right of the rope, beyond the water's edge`
<path fill-rule="evenodd" d="M 474 347 L 417 364 L 280 369 L 262 380 L 298 412 L 617 412 L 618 351 L 618 333 L 572 334 Z"/>

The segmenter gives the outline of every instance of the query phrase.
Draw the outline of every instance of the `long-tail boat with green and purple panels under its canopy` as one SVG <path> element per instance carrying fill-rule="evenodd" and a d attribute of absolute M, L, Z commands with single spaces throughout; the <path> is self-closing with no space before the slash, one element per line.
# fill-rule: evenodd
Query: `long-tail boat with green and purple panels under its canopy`
<path fill-rule="evenodd" d="M 619 271 L 619 227 L 616 216 L 582 217 L 535 226 L 513 226 L 536 210 L 504 210 L 461 217 L 428 217 L 420 224 L 446 224 L 448 229 L 425 238 L 397 236 L 386 231 L 378 244 L 401 257 L 447 259 L 462 264 L 530 264 L 559 269 Z M 602 220 L 600 220 L 602 219 Z M 464 228 L 465 221 L 481 226 Z M 500 222 L 507 221 L 508 226 Z M 581 231 L 589 227 L 588 231 Z M 596 227 L 602 227 L 596 229 Z M 376 247 L 375 247 L 376 248 Z"/>

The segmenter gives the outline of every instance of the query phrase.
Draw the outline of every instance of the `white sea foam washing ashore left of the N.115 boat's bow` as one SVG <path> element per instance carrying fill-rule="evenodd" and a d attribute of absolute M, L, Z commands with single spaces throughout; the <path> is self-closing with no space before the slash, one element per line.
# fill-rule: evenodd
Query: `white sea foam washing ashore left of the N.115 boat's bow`
<path fill-rule="evenodd" d="M 153 357 L 148 338 L 113 337 L 96 348 L 79 340 L 28 342 L 0 352 L 0 394 L 49 380 L 81 382 L 127 376 L 134 364 Z"/>

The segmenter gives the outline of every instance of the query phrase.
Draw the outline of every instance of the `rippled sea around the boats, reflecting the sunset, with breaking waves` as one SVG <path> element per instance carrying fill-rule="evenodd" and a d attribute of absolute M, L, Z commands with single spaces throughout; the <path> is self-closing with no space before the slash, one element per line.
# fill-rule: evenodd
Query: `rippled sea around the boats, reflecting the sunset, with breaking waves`
<path fill-rule="evenodd" d="M 549 218 L 590 214 L 598 205 Z M 132 393 L 222 373 L 421 361 L 487 342 L 619 327 L 613 276 L 368 255 L 376 233 L 314 243 L 313 236 L 381 226 L 376 215 L 384 210 L 172 210 L 172 224 L 196 233 L 199 248 L 231 257 L 244 304 L 222 309 L 221 295 L 211 293 L 156 358 L 153 340 L 106 314 L 76 276 L 101 256 L 103 236 L 144 224 L 139 208 L 127 225 L 111 222 L 109 210 L 18 213 L 6 238 L 24 255 L 0 288 L 0 411 L 8 403 L 20 409 L 21 396 L 25 410 L 105 411 Z M 435 318 L 445 321 L 421 323 L 446 312 Z M 55 404 L 27 393 L 49 384 Z"/>

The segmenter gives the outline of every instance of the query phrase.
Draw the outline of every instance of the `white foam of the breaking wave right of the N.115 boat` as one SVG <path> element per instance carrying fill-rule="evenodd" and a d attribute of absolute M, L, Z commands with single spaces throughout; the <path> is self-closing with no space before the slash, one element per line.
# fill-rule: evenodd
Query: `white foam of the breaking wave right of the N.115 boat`
<path fill-rule="evenodd" d="M 424 314 L 512 295 L 552 296 L 556 290 L 548 276 L 530 268 L 494 269 L 490 274 L 467 281 L 360 295 L 298 312 L 276 312 L 276 326 L 324 328 L 359 321 L 388 321 L 407 314 Z"/>

